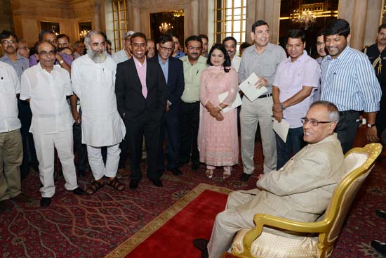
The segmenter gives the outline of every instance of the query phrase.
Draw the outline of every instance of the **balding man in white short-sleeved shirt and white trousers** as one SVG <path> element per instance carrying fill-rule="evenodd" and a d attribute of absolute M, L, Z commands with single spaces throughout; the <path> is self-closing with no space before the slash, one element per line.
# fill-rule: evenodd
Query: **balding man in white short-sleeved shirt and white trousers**
<path fill-rule="evenodd" d="M 34 136 L 39 160 L 40 206 L 47 207 L 55 194 L 53 179 L 54 153 L 58 152 L 65 176 L 65 188 L 76 195 L 84 194 L 78 187 L 74 165 L 72 120 L 66 96 L 72 95 L 69 73 L 55 63 L 56 48 L 48 41 L 36 44 L 37 65 L 22 74 L 20 99 L 29 101 L 32 123 L 29 128 Z"/>

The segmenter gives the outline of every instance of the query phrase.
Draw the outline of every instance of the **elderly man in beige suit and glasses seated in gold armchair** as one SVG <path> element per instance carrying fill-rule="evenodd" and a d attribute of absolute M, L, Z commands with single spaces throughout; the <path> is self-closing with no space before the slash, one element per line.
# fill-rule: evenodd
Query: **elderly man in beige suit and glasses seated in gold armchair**
<path fill-rule="evenodd" d="M 224 212 L 215 218 L 211 240 L 193 244 L 201 257 L 219 258 L 232 245 L 241 228 L 253 228 L 253 215 L 271 214 L 295 221 L 316 221 L 325 211 L 338 181 L 344 174 L 343 153 L 334 129 L 339 120 L 333 103 L 312 103 L 302 118 L 308 143 L 284 167 L 261 174 L 258 189 L 229 194 Z M 265 228 L 281 236 L 296 236 Z"/>

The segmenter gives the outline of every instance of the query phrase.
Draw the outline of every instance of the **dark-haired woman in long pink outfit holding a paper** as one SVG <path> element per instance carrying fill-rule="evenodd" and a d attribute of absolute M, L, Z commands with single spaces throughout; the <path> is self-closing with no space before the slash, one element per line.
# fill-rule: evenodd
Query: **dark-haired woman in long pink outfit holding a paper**
<path fill-rule="evenodd" d="M 208 56 L 208 67 L 201 74 L 199 97 L 201 101 L 198 146 L 200 161 L 206 163 L 206 176 L 212 178 L 215 167 L 224 167 L 223 179 L 232 172 L 239 160 L 237 136 L 237 109 L 225 112 L 238 94 L 238 76 L 222 44 L 213 45 Z M 220 103 L 218 96 L 227 92 Z"/>

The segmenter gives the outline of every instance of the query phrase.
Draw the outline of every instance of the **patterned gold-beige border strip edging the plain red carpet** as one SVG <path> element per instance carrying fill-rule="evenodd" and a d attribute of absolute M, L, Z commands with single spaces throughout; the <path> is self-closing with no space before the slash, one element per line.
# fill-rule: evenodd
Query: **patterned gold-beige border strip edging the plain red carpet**
<path fill-rule="evenodd" d="M 175 204 L 173 204 L 171 207 L 166 209 L 166 211 L 159 214 L 157 218 L 153 219 L 149 222 L 149 224 L 141 228 L 140 231 L 125 240 L 124 243 L 121 243 L 121 245 L 115 248 L 112 252 L 107 254 L 105 258 L 125 257 L 129 252 L 134 250 L 135 247 L 140 245 L 140 243 L 146 240 L 149 236 L 152 236 L 152 233 L 161 228 L 161 226 L 164 226 L 167 221 L 173 218 L 175 214 L 184 209 L 189 204 L 189 202 L 192 202 L 194 198 L 197 198 L 197 196 L 199 196 L 205 190 L 211 190 L 225 194 L 229 194 L 230 192 L 232 192 L 232 190 L 225 187 L 213 186 L 208 183 L 200 183 L 198 186 L 193 188 L 192 191 L 189 191 L 187 195 L 185 195 L 180 200 L 175 202 Z"/>

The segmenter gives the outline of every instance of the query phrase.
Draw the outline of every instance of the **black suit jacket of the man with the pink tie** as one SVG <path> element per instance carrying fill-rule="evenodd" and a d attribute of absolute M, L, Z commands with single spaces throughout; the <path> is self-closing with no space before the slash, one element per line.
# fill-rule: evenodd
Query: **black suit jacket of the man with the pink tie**
<path fill-rule="evenodd" d="M 142 84 L 133 58 L 117 65 L 115 93 L 119 114 L 124 120 L 135 120 L 148 112 L 154 121 L 161 120 L 166 110 L 168 91 L 164 73 L 158 63 L 147 60 L 147 98 L 142 95 Z"/>

